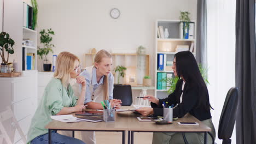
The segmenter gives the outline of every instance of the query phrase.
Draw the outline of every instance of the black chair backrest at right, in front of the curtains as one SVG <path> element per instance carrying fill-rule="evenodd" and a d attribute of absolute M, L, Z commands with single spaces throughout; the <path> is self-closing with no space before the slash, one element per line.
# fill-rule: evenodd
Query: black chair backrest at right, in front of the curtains
<path fill-rule="evenodd" d="M 219 119 L 219 130 L 218 137 L 222 140 L 230 140 L 236 120 L 238 104 L 238 89 L 232 87 L 229 89 L 228 94 L 226 94 L 226 99 L 222 109 L 222 115 Z"/>

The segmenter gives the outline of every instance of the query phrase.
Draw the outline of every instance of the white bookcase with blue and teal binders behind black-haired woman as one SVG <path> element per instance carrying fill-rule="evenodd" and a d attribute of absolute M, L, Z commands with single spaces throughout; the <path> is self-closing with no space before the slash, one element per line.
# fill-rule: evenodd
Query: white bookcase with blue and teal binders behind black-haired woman
<path fill-rule="evenodd" d="M 193 23 L 190 30 L 190 37 L 184 39 L 183 27 L 179 20 L 156 20 L 155 22 L 155 97 L 166 98 L 168 96 L 167 89 L 169 88 L 168 83 L 161 81 L 166 77 L 174 77 L 172 70 L 172 62 L 174 55 L 177 53 L 176 48 L 185 46 L 186 49 L 191 50 L 194 54 L 196 53 L 196 34 L 195 34 L 195 22 Z M 159 27 L 162 27 L 160 29 Z M 167 28 L 167 29 L 165 29 Z M 165 37 L 165 31 L 168 31 L 168 37 Z M 193 31 L 193 32 L 192 32 Z M 164 32 L 164 33 L 163 33 Z M 161 34 L 163 33 L 163 34 Z M 164 36 L 164 37 L 163 37 Z M 189 35 L 188 35 L 189 36 Z M 193 48 L 193 49 L 192 49 Z M 159 69 L 159 57 L 162 59 L 162 69 Z M 161 84 L 160 84 L 161 83 Z M 158 85 L 159 84 L 159 85 Z"/>

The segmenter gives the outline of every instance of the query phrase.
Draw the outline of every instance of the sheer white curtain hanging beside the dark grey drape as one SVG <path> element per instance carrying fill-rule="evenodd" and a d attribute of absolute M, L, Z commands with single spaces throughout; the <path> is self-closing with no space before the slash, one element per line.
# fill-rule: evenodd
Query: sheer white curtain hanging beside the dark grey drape
<path fill-rule="evenodd" d="M 217 134 L 226 93 L 235 86 L 235 11 L 234 0 L 207 0 L 208 91 L 217 143 L 222 143 Z M 232 143 L 235 135 L 234 129 Z"/>

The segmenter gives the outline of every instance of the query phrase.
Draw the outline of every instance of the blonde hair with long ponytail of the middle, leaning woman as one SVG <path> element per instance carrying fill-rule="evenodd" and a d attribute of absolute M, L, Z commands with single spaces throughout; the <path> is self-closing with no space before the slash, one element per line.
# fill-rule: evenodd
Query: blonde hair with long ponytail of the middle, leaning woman
<path fill-rule="evenodd" d="M 94 64 L 95 63 L 101 63 L 103 57 L 112 58 L 112 55 L 109 52 L 107 52 L 106 50 L 100 50 L 100 51 L 98 51 L 96 53 L 96 55 L 94 57 Z M 104 87 L 104 100 L 108 100 L 108 97 L 109 97 L 109 92 L 108 92 L 108 75 L 104 76 L 103 87 Z"/>

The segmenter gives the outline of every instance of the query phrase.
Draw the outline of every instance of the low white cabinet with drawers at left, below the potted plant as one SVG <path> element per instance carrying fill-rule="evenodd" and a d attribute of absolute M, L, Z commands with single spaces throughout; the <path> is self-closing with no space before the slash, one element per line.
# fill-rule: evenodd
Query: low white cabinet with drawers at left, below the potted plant
<path fill-rule="evenodd" d="M 0 78 L 0 112 L 10 106 L 25 135 L 27 135 L 31 118 L 37 109 L 36 83 L 37 73 L 29 76 Z M 4 123 L 4 126 L 14 143 L 21 139 L 17 131 L 14 133 L 11 119 Z"/>

